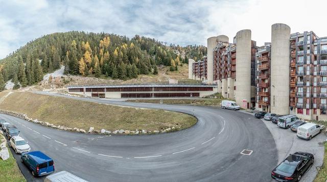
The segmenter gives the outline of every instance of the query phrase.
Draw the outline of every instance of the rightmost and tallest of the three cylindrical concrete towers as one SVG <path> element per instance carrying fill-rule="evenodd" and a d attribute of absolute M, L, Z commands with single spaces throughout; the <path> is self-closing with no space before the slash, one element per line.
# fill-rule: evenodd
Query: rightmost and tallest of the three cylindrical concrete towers
<path fill-rule="evenodd" d="M 282 23 L 271 25 L 270 107 L 276 114 L 289 114 L 290 102 L 290 34 Z"/>

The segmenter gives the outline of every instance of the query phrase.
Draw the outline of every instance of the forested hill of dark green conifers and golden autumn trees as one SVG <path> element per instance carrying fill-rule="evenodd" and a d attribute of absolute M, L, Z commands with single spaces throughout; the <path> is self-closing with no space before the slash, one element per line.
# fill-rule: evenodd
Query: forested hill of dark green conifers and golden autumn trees
<path fill-rule="evenodd" d="M 65 74 L 127 80 L 138 74 L 156 74 L 156 65 L 174 70 L 178 64 L 188 63 L 189 58 L 199 60 L 203 55 L 206 47 L 202 45 L 166 46 L 138 35 L 130 39 L 107 33 L 54 33 L 31 41 L 0 60 L 0 85 L 10 79 L 22 87 L 33 85 L 42 80 L 44 73 L 61 65 L 65 65 Z"/>

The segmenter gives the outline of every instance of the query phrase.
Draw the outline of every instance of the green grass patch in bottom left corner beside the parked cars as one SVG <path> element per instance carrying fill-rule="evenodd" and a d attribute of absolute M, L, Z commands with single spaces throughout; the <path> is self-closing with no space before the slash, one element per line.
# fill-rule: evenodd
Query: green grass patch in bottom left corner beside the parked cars
<path fill-rule="evenodd" d="M 2 138 L 2 135 L 0 135 L 0 138 Z M 0 159 L 0 181 L 4 181 L 4 182 L 26 181 L 25 177 L 21 174 L 18 165 L 16 163 L 16 160 L 13 157 L 10 149 L 9 149 L 9 155 L 10 157 L 6 161 Z"/>

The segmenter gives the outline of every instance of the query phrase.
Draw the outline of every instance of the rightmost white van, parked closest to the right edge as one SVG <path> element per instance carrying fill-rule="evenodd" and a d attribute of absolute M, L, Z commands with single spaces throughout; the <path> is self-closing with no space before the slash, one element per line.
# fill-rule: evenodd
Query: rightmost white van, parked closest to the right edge
<path fill-rule="evenodd" d="M 306 139 L 306 140 L 311 140 L 312 137 L 320 134 L 322 131 L 323 127 L 319 126 L 318 124 L 315 123 L 306 123 L 301 126 L 297 127 L 297 137 Z"/>

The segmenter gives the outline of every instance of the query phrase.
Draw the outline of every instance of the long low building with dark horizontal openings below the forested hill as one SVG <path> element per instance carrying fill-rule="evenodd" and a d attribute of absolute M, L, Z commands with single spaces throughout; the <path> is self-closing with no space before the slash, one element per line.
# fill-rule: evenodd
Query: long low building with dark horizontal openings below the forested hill
<path fill-rule="evenodd" d="M 217 92 L 217 85 L 107 85 L 68 87 L 69 94 L 100 98 L 204 97 Z"/>

